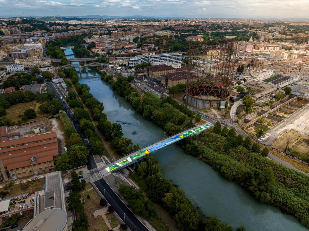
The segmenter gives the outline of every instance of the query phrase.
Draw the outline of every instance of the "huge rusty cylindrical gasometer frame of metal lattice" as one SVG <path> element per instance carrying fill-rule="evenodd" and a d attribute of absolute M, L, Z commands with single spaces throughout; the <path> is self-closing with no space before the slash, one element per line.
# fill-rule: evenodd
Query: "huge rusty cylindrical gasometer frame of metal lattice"
<path fill-rule="evenodd" d="M 189 105 L 219 108 L 231 96 L 237 45 L 235 40 L 190 41 L 186 89 Z"/>

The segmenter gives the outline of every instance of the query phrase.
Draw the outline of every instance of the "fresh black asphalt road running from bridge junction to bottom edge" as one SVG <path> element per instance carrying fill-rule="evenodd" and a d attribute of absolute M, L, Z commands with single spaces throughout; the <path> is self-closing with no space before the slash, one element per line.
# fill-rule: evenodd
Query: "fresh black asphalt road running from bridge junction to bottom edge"
<path fill-rule="evenodd" d="M 137 217 L 129 210 L 127 206 L 120 200 L 112 188 L 106 183 L 104 179 L 99 179 L 94 182 L 95 186 L 99 189 L 101 194 L 106 196 L 106 200 L 110 205 L 115 208 L 115 212 L 120 216 L 124 217 L 125 213 L 125 223 L 128 225 L 130 230 L 134 231 L 148 231 L 148 229 L 143 225 L 143 223 L 138 220 Z M 105 189 L 105 193 L 104 193 Z"/>

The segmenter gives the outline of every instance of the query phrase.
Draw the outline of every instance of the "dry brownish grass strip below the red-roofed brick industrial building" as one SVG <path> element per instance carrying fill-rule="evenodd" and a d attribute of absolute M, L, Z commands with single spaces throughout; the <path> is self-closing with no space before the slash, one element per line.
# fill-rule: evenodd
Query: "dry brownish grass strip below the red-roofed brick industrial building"
<path fill-rule="evenodd" d="M 16 180 L 15 182 L 20 181 L 21 179 Z M 4 182 L 3 184 L 6 184 L 7 182 Z M 3 185 L 2 184 L 2 185 Z M 31 189 L 34 191 L 38 191 L 42 189 L 42 185 L 45 184 L 45 177 L 44 178 L 39 178 L 39 179 L 29 179 L 28 182 L 20 183 L 20 184 L 14 184 L 11 188 L 8 188 L 7 190 L 4 190 L 1 188 L 1 191 L 7 191 L 9 192 L 11 190 L 11 195 L 8 194 L 6 195 L 7 197 L 10 196 L 17 196 L 23 193 L 31 192 Z M 22 186 L 27 185 L 28 188 L 26 190 L 22 190 Z M 3 199 L 3 198 L 2 198 Z"/>

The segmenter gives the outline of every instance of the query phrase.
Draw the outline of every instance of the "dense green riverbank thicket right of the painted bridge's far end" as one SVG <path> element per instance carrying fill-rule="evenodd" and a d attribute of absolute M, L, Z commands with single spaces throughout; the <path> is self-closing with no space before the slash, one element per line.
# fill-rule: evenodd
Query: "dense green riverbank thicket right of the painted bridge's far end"
<path fill-rule="evenodd" d="M 309 177 L 265 158 L 267 147 L 261 151 L 257 143 L 251 143 L 249 136 L 243 140 L 226 126 L 217 134 L 206 130 L 199 137 L 194 135 L 181 140 L 180 145 L 186 153 L 212 165 L 227 180 L 252 192 L 256 199 L 293 214 L 309 227 Z"/>

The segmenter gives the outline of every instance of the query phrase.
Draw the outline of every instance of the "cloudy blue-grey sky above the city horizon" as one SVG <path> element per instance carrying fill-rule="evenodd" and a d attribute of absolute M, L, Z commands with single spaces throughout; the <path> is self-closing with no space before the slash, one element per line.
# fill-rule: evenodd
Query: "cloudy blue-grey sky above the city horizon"
<path fill-rule="evenodd" d="M 309 18 L 308 0 L 0 0 L 0 16 Z"/>

